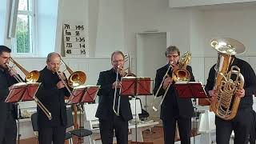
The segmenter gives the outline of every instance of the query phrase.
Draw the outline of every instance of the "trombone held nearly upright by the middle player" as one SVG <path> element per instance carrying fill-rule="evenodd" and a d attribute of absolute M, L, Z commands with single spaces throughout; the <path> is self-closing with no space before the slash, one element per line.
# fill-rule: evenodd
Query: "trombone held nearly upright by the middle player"
<path fill-rule="evenodd" d="M 121 77 L 136 77 L 135 74 L 131 73 L 131 65 L 130 65 L 130 55 L 129 54 L 126 54 L 125 55 L 125 58 L 124 58 L 124 64 L 127 65 L 127 68 L 123 68 L 121 66 L 118 66 L 118 70 L 117 70 L 117 74 L 116 74 L 116 78 L 115 78 L 115 82 L 119 82 L 118 80 L 118 74 L 121 75 Z M 126 71 L 127 70 L 127 71 Z M 119 96 L 118 97 L 118 111 L 116 111 L 114 109 L 115 107 L 115 100 L 117 98 L 117 90 L 118 90 L 118 87 L 117 85 L 114 87 L 114 102 L 113 102 L 113 106 L 112 106 L 112 109 L 114 111 L 114 114 L 116 115 L 119 115 L 119 110 L 120 110 L 120 100 L 121 100 L 121 97 Z"/>

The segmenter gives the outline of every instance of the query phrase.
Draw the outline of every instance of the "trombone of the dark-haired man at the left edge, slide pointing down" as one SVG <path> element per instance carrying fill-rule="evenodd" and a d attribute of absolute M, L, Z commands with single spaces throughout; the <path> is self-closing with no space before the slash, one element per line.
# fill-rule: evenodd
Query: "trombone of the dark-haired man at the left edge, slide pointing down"
<path fill-rule="evenodd" d="M 38 70 L 33 70 L 31 72 L 28 72 L 27 70 L 25 70 L 20 64 L 18 64 L 18 62 L 14 61 L 13 58 L 9 58 L 10 62 L 13 62 L 14 65 L 16 65 L 19 70 L 21 70 L 25 75 L 26 75 L 26 82 L 37 82 L 38 81 L 38 78 L 39 78 L 39 72 Z M 20 78 L 18 76 L 18 74 L 14 71 L 13 67 L 12 66 L 9 66 L 8 63 L 6 63 L 6 66 L 8 67 L 9 70 L 12 70 L 14 72 L 14 78 L 18 81 L 18 82 L 23 82 L 22 78 Z M 38 106 L 40 107 L 40 109 L 42 110 L 42 112 L 44 114 L 46 114 L 46 117 L 51 120 L 51 114 L 50 114 L 50 111 L 46 108 L 46 106 L 44 106 L 42 104 L 42 102 L 39 101 L 38 98 L 36 98 L 35 96 L 33 97 L 34 99 L 34 102 L 36 102 L 38 104 Z"/>

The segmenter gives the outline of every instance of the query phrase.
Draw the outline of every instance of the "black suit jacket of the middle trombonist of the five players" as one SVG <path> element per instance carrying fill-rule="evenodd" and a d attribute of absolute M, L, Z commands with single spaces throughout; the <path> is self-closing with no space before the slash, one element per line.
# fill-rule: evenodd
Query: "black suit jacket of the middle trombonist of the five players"
<path fill-rule="evenodd" d="M 120 80 L 120 75 L 118 76 Z M 98 91 L 99 102 L 96 117 L 103 120 L 110 120 L 113 118 L 114 110 L 112 109 L 114 101 L 114 89 L 112 84 L 115 82 L 116 73 L 114 69 L 102 71 L 99 74 L 97 85 L 101 86 Z M 118 90 L 119 94 L 119 90 Z M 116 106 L 118 105 L 118 97 L 116 98 Z M 121 97 L 120 100 L 120 114 L 124 120 L 128 121 L 132 119 L 130 110 L 130 102 L 128 97 Z"/>

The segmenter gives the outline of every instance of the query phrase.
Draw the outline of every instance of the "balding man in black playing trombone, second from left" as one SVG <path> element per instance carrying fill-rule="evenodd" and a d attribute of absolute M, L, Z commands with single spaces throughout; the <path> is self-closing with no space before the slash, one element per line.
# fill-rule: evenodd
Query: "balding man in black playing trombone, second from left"
<path fill-rule="evenodd" d="M 40 71 L 38 82 L 42 82 L 37 97 L 51 113 L 52 119 L 38 107 L 38 141 L 39 144 L 63 144 L 66 133 L 66 106 L 64 97 L 70 93 L 58 76 L 61 57 L 58 53 L 50 53 L 47 66 Z M 64 74 L 60 76 L 65 81 Z"/>

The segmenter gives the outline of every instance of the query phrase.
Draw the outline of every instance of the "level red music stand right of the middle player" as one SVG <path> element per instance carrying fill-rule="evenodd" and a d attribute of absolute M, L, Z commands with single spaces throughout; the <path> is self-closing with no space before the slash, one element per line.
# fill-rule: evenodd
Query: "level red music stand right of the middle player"
<path fill-rule="evenodd" d="M 133 96 L 135 97 L 135 139 L 137 142 L 137 107 L 136 99 L 138 95 L 152 95 L 150 87 L 150 78 L 144 77 L 122 77 L 120 96 Z"/>

